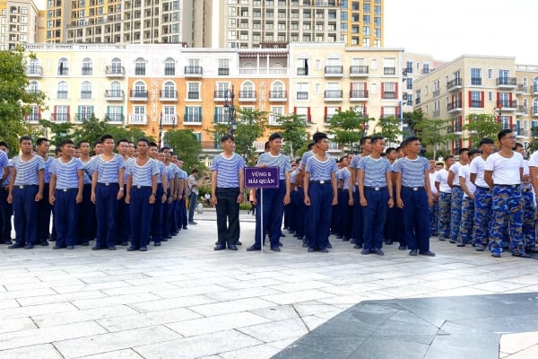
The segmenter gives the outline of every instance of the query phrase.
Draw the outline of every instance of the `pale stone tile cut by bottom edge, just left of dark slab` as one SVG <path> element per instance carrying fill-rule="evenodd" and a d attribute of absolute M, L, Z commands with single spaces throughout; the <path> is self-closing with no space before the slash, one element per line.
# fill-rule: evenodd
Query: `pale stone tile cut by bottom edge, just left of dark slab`
<path fill-rule="evenodd" d="M 196 337 L 186 337 L 146 346 L 135 346 L 134 350 L 146 359 L 183 359 L 217 355 L 241 348 L 262 344 L 253 337 L 237 330 L 224 330 Z"/>

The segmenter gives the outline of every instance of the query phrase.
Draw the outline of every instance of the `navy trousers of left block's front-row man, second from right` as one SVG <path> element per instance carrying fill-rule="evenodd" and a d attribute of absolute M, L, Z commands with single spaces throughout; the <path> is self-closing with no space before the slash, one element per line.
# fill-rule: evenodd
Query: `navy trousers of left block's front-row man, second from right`
<path fill-rule="evenodd" d="M 97 215 L 96 247 L 107 248 L 116 245 L 117 183 L 106 186 L 98 183 L 95 188 L 95 213 Z M 146 218 L 146 221 L 148 219 Z"/>

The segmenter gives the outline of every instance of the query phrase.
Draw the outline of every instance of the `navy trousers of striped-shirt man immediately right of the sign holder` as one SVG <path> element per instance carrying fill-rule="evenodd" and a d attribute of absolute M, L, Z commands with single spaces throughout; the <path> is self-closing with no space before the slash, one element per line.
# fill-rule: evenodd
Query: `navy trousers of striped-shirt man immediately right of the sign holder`
<path fill-rule="evenodd" d="M 333 186 L 310 182 L 308 186 L 308 248 L 325 250 L 328 244 L 329 227 L 333 211 Z"/>

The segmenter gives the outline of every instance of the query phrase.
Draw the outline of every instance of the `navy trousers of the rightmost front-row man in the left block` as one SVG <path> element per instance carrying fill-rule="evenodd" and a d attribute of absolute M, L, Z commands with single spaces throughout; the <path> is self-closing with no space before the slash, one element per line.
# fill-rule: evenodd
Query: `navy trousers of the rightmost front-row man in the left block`
<path fill-rule="evenodd" d="M 152 188 L 131 188 L 131 200 L 129 205 L 133 209 L 131 214 L 131 247 L 139 250 L 147 247 L 150 242 L 150 231 L 152 228 L 153 205 L 150 204 Z M 157 199 L 155 199 L 157 200 Z M 134 210 L 135 209 L 135 210 Z"/>

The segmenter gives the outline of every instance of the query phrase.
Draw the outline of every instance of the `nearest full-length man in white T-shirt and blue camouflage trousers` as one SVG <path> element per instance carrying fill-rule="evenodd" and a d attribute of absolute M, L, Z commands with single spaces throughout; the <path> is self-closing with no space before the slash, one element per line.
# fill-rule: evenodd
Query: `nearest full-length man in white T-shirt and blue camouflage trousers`
<path fill-rule="evenodd" d="M 512 256 L 530 258 L 525 253 L 523 238 L 523 199 L 521 180 L 525 166 L 523 156 L 512 150 L 516 136 L 511 129 L 503 129 L 497 135 L 500 151 L 493 153 L 484 166 L 484 180 L 492 189 L 491 256 L 500 257 L 503 230 L 510 235 Z"/>

